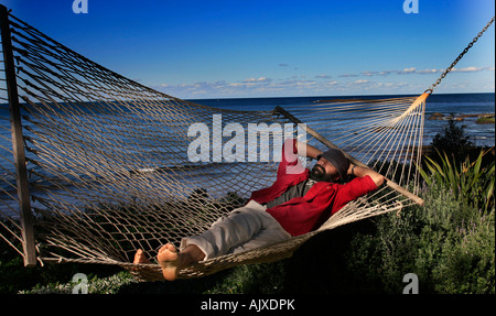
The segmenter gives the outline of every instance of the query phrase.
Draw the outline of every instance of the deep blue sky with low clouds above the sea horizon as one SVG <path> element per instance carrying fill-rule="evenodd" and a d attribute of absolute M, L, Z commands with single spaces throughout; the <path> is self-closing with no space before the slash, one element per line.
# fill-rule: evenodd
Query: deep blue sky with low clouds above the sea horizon
<path fill-rule="evenodd" d="M 420 95 L 495 14 L 493 0 L 0 3 L 89 59 L 183 99 Z M 75 13 L 84 3 L 87 13 Z M 495 24 L 435 94 L 495 91 Z"/>

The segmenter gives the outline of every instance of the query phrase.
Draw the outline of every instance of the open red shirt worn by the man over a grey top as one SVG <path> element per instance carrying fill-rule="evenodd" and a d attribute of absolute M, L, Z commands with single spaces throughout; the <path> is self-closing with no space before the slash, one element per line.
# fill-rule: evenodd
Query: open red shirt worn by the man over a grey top
<path fill-rule="evenodd" d="M 251 199 L 260 204 L 269 203 L 291 186 L 308 179 L 310 171 L 298 159 L 295 140 L 285 140 L 276 182 L 270 187 L 254 192 Z M 348 201 L 375 189 L 377 186 L 369 176 L 356 177 L 344 185 L 317 182 L 303 197 L 294 197 L 268 208 L 267 213 L 276 218 L 285 231 L 300 236 L 317 229 Z"/>

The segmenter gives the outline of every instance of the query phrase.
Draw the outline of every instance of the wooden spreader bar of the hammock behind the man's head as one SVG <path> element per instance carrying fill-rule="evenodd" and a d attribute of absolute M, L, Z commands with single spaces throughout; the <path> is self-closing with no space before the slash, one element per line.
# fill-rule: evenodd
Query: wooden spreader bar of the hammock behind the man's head
<path fill-rule="evenodd" d="M 290 112 L 288 112 L 287 110 L 284 110 L 281 107 L 276 107 L 276 111 L 278 111 L 279 113 L 281 113 L 282 116 L 284 116 L 287 119 L 289 119 L 290 121 L 292 121 L 295 124 L 302 123 L 302 121 L 300 121 L 299 119 L 296 119 L 293 115 L 291 115 Z M 336 146 L 335 144 L 333 144 L 332 142 L 330 142 L 326 138 L 324 138 L 323 135 L 321 135 L 320 133 L 317 133 L 315 130 L 313 130 L 312 128 L 305 127 L 305 131 L 311 134 L 312 137 L 314 137 L 317 141 L 321 141 L 323 144 L 325 144 L 328 148 L 332 149 L 337 149 L 341 150 L 338 146 Z M 353 157 L 352 155 L 349 155 L 348 153 L 344 152 L 343 150 L 341 150 L 343 152 L 343 154 L 346 156 L 346 159 L 348 161 L 351 161 L 352 163 L 358 165 L 358 166 L 363 166 L 363 167 L 368 167 L 366 164 L 364 164 L 363 162 L 358 161 L 357 159 Z M 392 188 L 393 190 L 405 195 L 406 197 L 408 197 L 409 199 L 411 199 L 412 201 L 417 203 L 420 206 L 423 206 L 423 199 L 421 199 L 420 197 L 418 197 L 417 195 L 412 194 L 411 192 L 409 192 L 408 189 L 403 188 L 402 186 L 398 185 L 397 183 L 385 178 L 386 179 L 386 185 L 389 186 L 390 188 Z"/>

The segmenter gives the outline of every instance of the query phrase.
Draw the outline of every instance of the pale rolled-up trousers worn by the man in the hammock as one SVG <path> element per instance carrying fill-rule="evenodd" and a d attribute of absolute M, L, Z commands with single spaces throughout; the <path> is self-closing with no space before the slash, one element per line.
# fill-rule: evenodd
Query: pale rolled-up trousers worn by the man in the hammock
<path fill-rule="evenodd" d="M 183 238 L 180 250 L 197 246 L 204 261 L 227 253 L 268 246 L 291 238 L 281 225 L 255 200 L 220 217 L 212 228 L 194 237 Z"/>

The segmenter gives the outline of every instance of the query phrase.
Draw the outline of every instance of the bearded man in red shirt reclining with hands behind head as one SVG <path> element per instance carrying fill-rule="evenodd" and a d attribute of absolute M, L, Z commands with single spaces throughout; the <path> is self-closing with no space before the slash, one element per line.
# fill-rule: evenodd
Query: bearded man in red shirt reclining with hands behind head
<path fill-rule="evenodd" d="M 256 190 L 245 207 L 219 218 L 205 232 L 183 238 L 180 250 L 168 243 L 157 260 L 165 280 L 192 263 L 288 240 L 317 229 L 348 201 L 377 189 L 384 176 L 351 164 L 339 150 L 322 152 L 289 139 L 282 148 L 276 182 Z M 316 159 L 312 171 L 298 156 Z M 348 175 L 351 182 L 341 184 Z M 134 263 L 150 263 L 142 250 Z"/>

